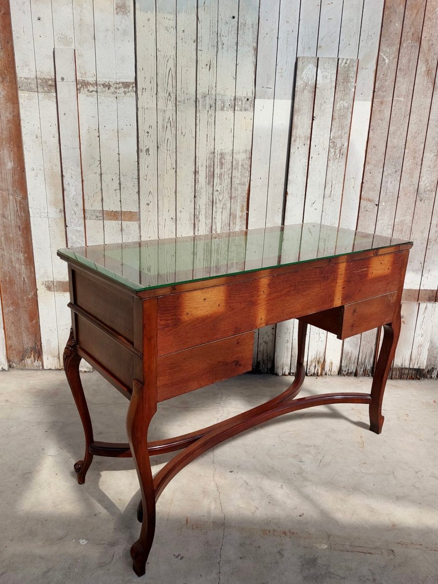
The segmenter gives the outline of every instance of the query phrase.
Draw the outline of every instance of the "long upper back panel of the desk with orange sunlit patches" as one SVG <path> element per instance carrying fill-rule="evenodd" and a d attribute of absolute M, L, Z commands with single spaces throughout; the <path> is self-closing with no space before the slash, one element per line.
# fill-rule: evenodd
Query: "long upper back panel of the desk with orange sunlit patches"
<path fill-rule="evenodd" d="M 397 290 L 404 252 L 259 277 L 158 298 L 165 355 Z"/>

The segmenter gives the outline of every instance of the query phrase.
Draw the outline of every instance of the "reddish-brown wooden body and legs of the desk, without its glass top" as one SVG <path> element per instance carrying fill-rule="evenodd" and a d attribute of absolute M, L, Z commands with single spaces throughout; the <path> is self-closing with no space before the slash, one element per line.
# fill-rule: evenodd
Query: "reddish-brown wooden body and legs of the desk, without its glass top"
<path fill-rule="evenodd" d="M 80 297 L 82 292 L 78 294 L 71 286 L 75 333 L 70 340 L 71 353 L 66 357 L 66 372 L 81 413 L 87 446 L 84 463 L 79 471 L 81 477 L 85 477 L 86 468 L 94 454 L 133 456 L 142 496 L 138 507 L 138 517 L 142 520 L 140 537 L 131 547 L 135 573 L 141 575 L 145 571 L 145 562 L 154 538 L 155 501 L 177 472 L 215 444 L 283 413 L 336 403 L 369 404 L 371 430 L 380 432 L 383 423 L 383 392 L 399 332 L 398 307 L 408 253 L 408 248 L 404 248 L 393 253 L 373 253 L 354 260 L 344 256 L 336 258 L 333 263 L 315 260 L 298 267 L 288 266 L 293 268 L 288 272 L 279 269 L 278 275 L 274 275 L 275 270 L 269 275 L 259 270 L 251 278 L 248 274 L 240 274 L 216 286 L 211 285 L 211 280 L 206 280 L 204 288 L 202 283 L 197 283 L 197 290 L 181 291 L 176 286 L 167 291 L 162 290 L 161 297 L 141 299 L 140 294 L 132 298 L 132 293 L 121 293 L 132 307 L 128 311 L 129 316 L 125 317 L 131 319 L 126 326 L 132 331 L 132 341 L 122 337 L 113 325 L 117 320 L 113 321 L 111 317 L 112 303 L 107 303 L 105 310 L 102 305 L 99 306 L 98 318 L 95 314 L 98 310 L 93 308 L 96 298 L 82 301 L 87 310 L 78 308 L 74 304 L 75 297 Z M 72 270 L 70 273 L 72 277 Z M 100 282 L 100 276 L 90 274 L 88 277 L 86 270 L 81 273 L 85 278 L 83 281 L 89 279 L 114 291 L 111 283 Z M 82 280 L 78 279 L 77 282 Z M 89 282 L 86 290 L 88 295 L 93 295 L 93 286 Z M 118 286 L 116 291 L 118 294 Z M 395 296 L 394 291 L 397 291 Z M 395 317 L 394 307 L 397 308 Z M 117 310 L 116 301 L 114 310 Z M 213 426 L 166 440 L 148 442 L 148 427 L 157 410 L 158 401 L 249 369 L 253 327 L 259 326 L 260 322 L 274 322 L 286 314 L 286 318 L 301 317 L 306 310 L 319 312 L 320 318 L 324 310 L 330 315 L 335 314 L 333 310 L 336 311 L 336 318 L 329 322 L 329 317 L 326 317 L 320 324 L 332 326 L 335 323 L 336 330 L 342 335 L 376 326 L 382 319 L 391 322 L 385 322 L 385 337 L 371 394 L 326 394 L 293 399 L 300 391 L 305 377 L 305 320 L 308 318 L 303 318 L 298 323 L 296 378 L 283 394 Z M 339 318 L 339 314 L 342 318 Z M 241 330 L 245 328 L 248 330 Z M 231 335 L 230 331 L 237 333 Z M 176 339 L 172 341 L 173 345 L 169 341 L 167 348 L 172 350 L 165 354 L 160 354 L 159 350 L 161 333 L 165 333 L 168 339 L 171 339 L 171 335 Z M 211 340 L 211 335 L 219 338 Z M 206 338 L 208 340 L 204 342 Z M 73 339 L 77 340 L 77 344 Z M 187 343 L 192 346 L 176 351 L 181 343 L 183 346 Z M 81 356 L 130 398 L 127 413 L 129 444 L 94 442 L 92 439 L 91 421 L 78 373 Z M 153 480 L 150 456 L 181 449 Z"/>

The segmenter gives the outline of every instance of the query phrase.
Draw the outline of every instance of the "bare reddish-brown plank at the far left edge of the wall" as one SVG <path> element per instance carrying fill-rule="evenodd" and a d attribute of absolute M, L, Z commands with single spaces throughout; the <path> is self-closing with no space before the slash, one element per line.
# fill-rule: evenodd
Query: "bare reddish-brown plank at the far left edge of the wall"
<path fill-rule="evenodd" d="M 0 288 L 12 367 L 41 367 L 41 336 L 9 2 L 0 2 Z"/>

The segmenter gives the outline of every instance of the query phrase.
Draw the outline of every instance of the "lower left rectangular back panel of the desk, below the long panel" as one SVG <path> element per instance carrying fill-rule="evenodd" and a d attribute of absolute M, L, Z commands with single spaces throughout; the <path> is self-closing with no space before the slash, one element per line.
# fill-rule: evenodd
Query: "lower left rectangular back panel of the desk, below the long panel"
<path fill-rule="evenodd" d="M 158 401 L 250 371 L 253 341 L 252 331 L 158 357 Z"/>

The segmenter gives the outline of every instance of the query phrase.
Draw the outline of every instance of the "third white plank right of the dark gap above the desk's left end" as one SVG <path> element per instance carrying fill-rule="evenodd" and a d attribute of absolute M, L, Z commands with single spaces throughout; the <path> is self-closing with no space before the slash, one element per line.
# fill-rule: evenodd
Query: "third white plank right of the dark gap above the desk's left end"
<path fill-rule="evenodd" d="M 194 232 L 196 0 L 176 3 L 176 235 Z"/>

